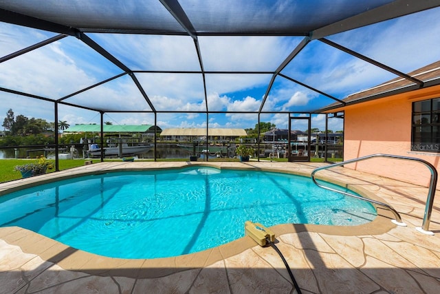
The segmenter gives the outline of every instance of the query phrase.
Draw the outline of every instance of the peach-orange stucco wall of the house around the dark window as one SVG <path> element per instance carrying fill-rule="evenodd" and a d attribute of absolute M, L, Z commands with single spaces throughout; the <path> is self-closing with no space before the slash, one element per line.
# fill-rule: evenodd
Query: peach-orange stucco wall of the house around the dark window
<path fill-rule="evenodd" d="M 440 97 L 440 87 L 351 105 L 344 109 L 344 160 L 393 154 L 426 160 L 439 170 L 440 154 L 411 151 L 412 102 Z M 428 186 L 430 171 L 421 163 L 377 158 L 347 167 Z M 437 185 L 437 189 L 439 189 Z"/>

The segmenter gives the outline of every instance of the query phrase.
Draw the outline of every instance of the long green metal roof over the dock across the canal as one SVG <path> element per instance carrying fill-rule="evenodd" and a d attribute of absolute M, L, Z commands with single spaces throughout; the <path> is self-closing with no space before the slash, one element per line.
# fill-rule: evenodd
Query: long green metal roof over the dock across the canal
<path fill-rule="evenodd" d="M 104 125 L 104 133 L 146 133 L 154 132 L 154 125 Z M 157 131 L 162 131 L 157 127 Z M 79 132 L 101 132 L 100 125 L 73 125 L 64 132 L 79 133 Z"/>

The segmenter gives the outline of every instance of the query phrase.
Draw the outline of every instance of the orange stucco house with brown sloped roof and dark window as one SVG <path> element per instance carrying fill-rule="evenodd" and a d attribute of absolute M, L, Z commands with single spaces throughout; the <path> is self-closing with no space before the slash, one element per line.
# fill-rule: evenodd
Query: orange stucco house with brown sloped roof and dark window
<path fill-rule="evenodd" d="M 429 85 L 440 78 L 440 61 L 409 75 Z M 440 85 L 399 93 L 406 87 L 415 84 L 395 78 L 348 96 L 344 107 L 327 109 L 332 113 L 344 111 L 344 160 L 393 154 L 421 158 L 440 169 Z M 430 180 L 430 171 L 416 161 L 379 158 L 346 167 L 418 185 L 428 185 Z"/>

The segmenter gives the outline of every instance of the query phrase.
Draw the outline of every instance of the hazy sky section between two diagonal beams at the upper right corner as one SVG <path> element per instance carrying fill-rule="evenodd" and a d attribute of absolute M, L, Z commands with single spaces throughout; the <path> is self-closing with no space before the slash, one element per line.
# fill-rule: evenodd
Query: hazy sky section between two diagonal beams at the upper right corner
<path fill-rule="evenodd" d="M 332 37 L 336 42 L 403 72 L 440 59 L 440 8 L 384 21 Z"/>

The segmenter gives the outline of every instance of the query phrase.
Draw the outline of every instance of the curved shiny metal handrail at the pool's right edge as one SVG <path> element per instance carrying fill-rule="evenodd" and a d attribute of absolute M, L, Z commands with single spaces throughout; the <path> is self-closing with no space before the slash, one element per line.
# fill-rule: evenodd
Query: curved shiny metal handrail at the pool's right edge
<path fill-rule="evenodd" d="M 315 174 L 317 171 L 320 171 L 322 169 L 329 169 L 331 167 L 338 167 L 341 165 L 347 165 L 349 163 L 353 163 L 353 162 L 358 162 L 358 161 L 362 161 L 362 160 L 366 160 L 369 158 L 375 158 L 375 157 L 386 157 L 386 158 L 396 158 L 396 159 L 401 159 L 401 160 L 415 160 L 418 162 L 423 163 L 424 165 L 426 165 L 426 167 L 428 167 L 428 169 L 431 172 L 431 179 L 430 179 L 430 185 L 429 185 L 429 190 L 428 190 L 428 198 L 426 199 L 426 207 L 425 207 L 425 214 L 423 216 L 423 223 L 421 225 L 421 227 L 417 227 L 417 231 L 420 231 L 421 233 L 426 233 L 429 235 L 433 235 L 432 232 L 429 231 L 429 223 L 430 223 L 430 218 L 431 218 L 431 213 L 432 213 L 432 205 L 434 204 L 434 196 L 435 196 L 435 187 L 437 186 L 437 178 L 438 178 L 438 174 L 437 174 L 437 169 L 435 169 L 434 165 L 432 165 L 430 162 L 420 159 L 420 158 L 414 158 L 414 157 L 408 157 L 408 156 L 397 156 L 397 155 L 391 155 L 391 154 L 371 154 L 371 155 L 367 155 L 367 156 L 362 156 L 359 158 L 354 158 L 354 159 L 350 159 L 350 160 L 345 160 L 342 162 L 337 162 L 337 163 L 333 163 L 332 165 L 327 165 L 325 167 L 318 167 L 316 169 L 314 169 L 314 171 L 311 172 L 311 179 L 315 182 L 316 185 L 318 185 L 318 187 L 321 187 L 323 189 L 327 189 L 327 190 L 331 190 L 331 191 L 336 191 L 338 193 L 342 193 L 346 196 L 350 196 L 350 197 L 354 197 L 354 198 L 358 198 L 360 200 L 364 200 L 367 202 L 372 202 L 375 203 L 377 205 L 386 207 L 386 209 L 389 209 L 393 212 L 393 214 L 395 215 L 396 220 L 393 220 L 393 222 L 395 224 L 398 224 L 400 226 L 406 226 L 406 224 L 404 224 L 401 221 L 400 215 L 399 213 L 397 213 L 397 211 L 395 209 L 393 209 L 393 207 L 391 207 L 388 204 L 382 203 L 382 202 L 378 202 L 375 200 L 371 200 L 368 198 L 363 198 L 360 196 L 356 196 L 354 194 L 351 193 L 347 193 L 347 192 L 343 192 L 343 191 L 339 191 L 336 189 L 332 189 L 329 187 L 325 187 L 323 185 L 320 185 L 316 179 L 315 179 Z"/>

